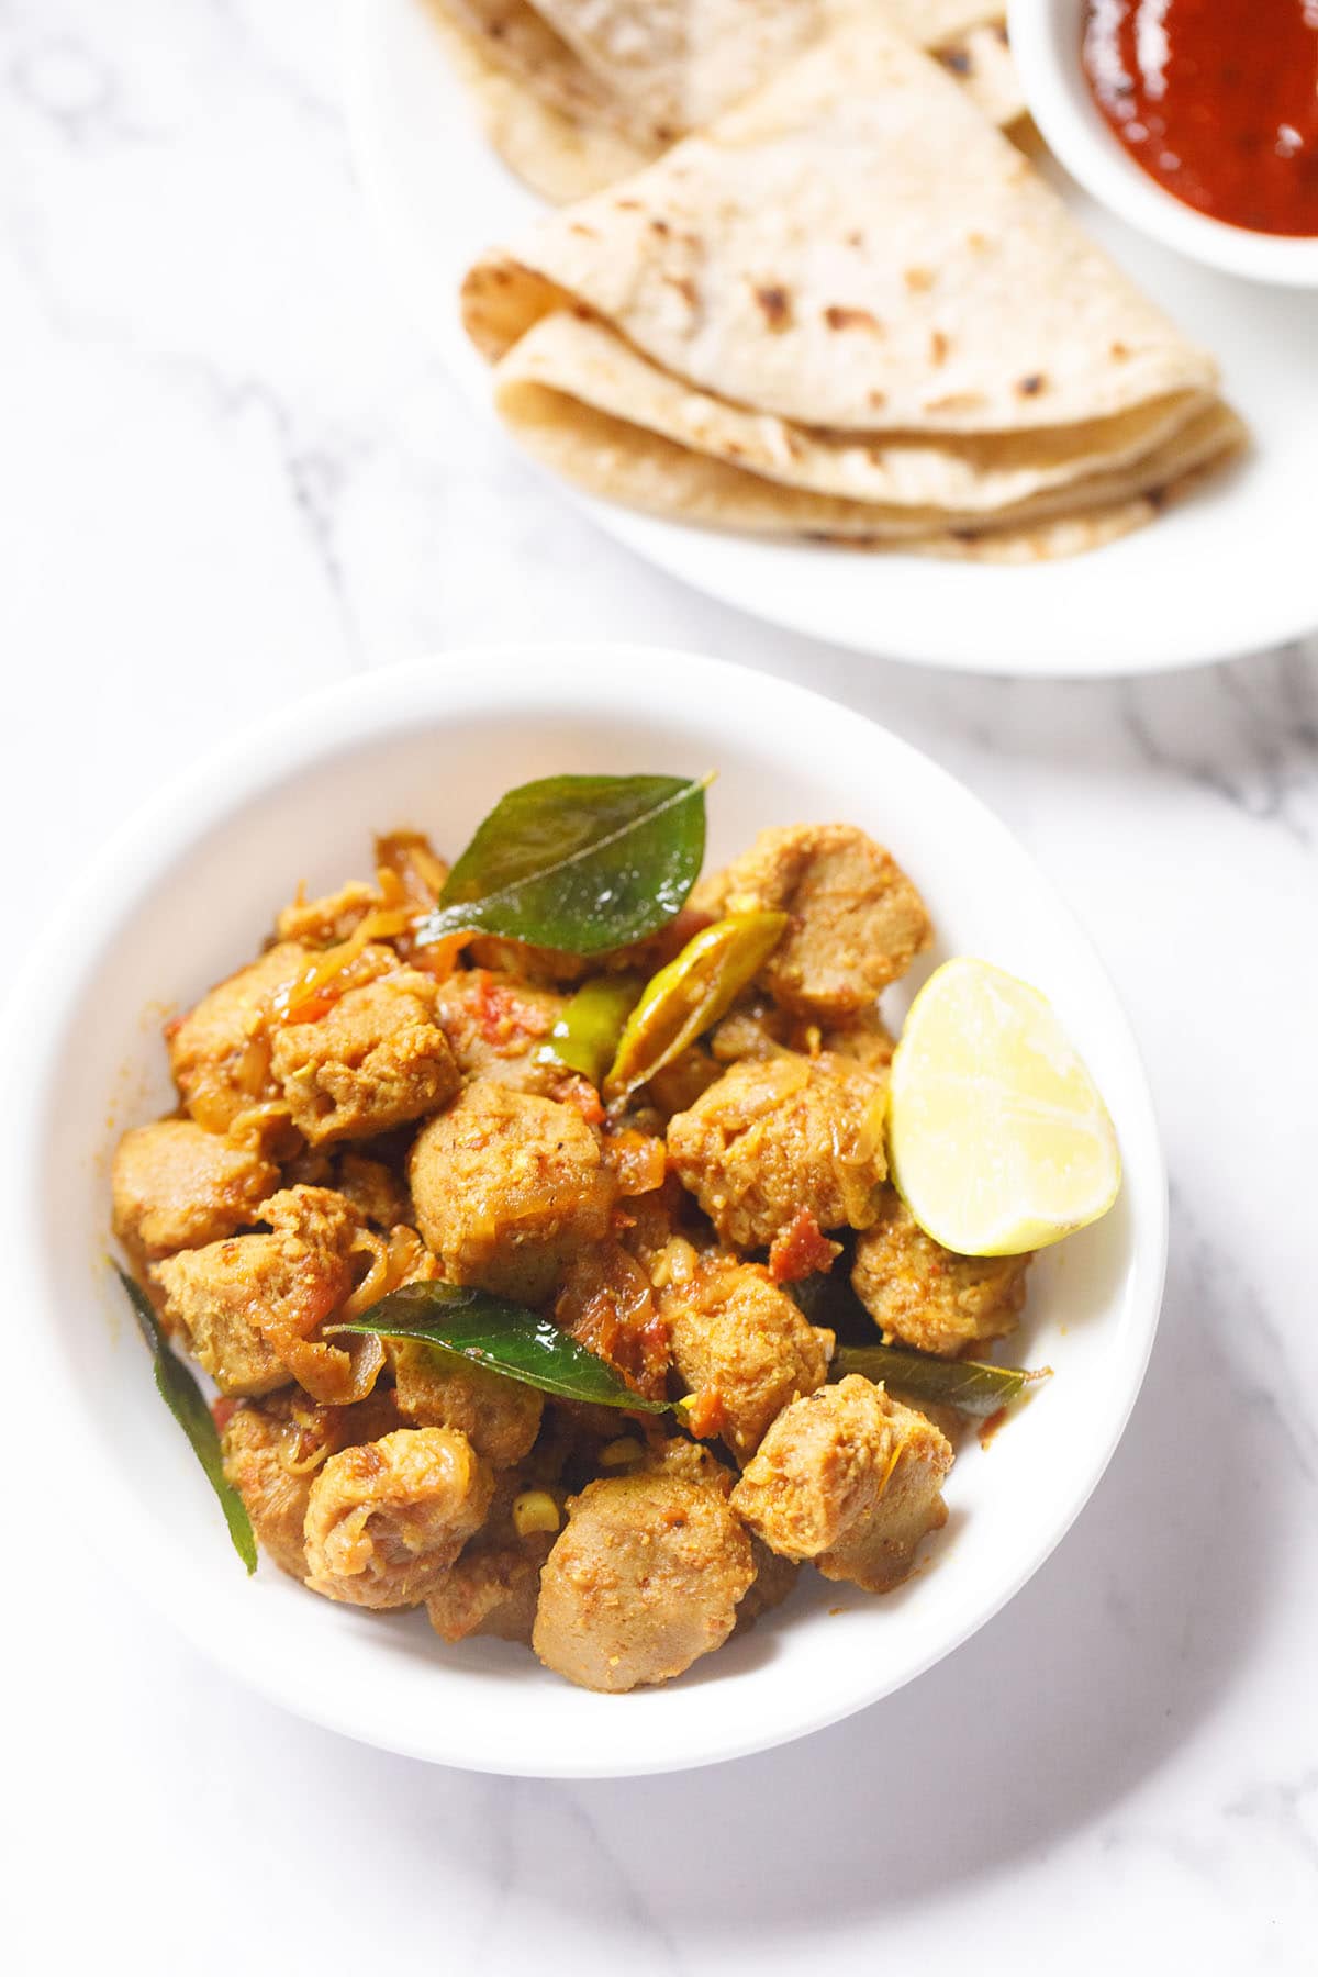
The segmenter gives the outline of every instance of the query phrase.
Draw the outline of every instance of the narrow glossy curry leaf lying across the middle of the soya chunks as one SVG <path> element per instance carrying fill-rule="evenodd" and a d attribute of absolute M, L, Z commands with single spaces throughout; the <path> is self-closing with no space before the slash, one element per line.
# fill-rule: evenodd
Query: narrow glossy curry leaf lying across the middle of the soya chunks
<path fill-rule="evenodd" d="M 470 1285 L 403 1283 L 360 1317 L 326 1325 L 326 1336 L 330 1332 L 425 1338 L 559 1400 L 591 1400 L 638 1414 L 664 1414 L 668 1408 L 666 1400 L 634 1394 L 613 1366 L 587 1352 L 553 1319 Z"/>

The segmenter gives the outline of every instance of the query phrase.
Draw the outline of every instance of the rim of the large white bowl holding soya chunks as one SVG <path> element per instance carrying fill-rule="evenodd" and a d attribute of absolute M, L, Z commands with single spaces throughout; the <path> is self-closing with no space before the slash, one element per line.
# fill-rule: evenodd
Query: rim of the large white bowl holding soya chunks
<path fill-rule="evenodd" d="M 648 674 L 634 668 L 652 668 Z M 636 680 L 648 678 L 652 686 L 636 690 Z M 439 686 L 437 682 L 443 682 Z M 225 741 L 206 751 L 196 763 L 176 771 L 150 795 L 99 848 L 63 902 L 51 913 L 47 925 L 38 935 L 28 965 L 20 973 L 8 1008 L 18 1026 L 18 1034 L 32 1040 L 30 1048 L 14 1054 L 6 1074 L 6 1097 L 10 1107 L 10 1135 L 6 1135 L 6 1160 L 12 1168 L 10 1186 L 4 1198 L 10 1204 L 10 1253 L 18 1263 L 16 1281 L 20 1295 L 26 1293 L 30 1309 L 43 1313 L 55 1303 L 55 1287 L 45 1271 L 45 1190 L 41 1186 L 41 1162 L 26 1159 L 43 1143 L 47 1127 L 45 1091 L 53 1079 L 59 1042 L 67 1034 L 81 996 L 83 981 L 77 969 L 69 967 L 69 957 L 79 951 L 95 955 L 107 939 L 115 939 L 123 921 L 140 905 L 160 880 L 186 858 L 209 832 L 221 828 L 225 820 L 241 813 L 259 793 L 273 789 L 288 775 L 294 775 L 316 761 L 324 761 L 352 749 L 358 743 L 371 745 L 395 733 L 407 720 L 421 712 L 431 718 L 441 712 L 494 714 L 516 710 L 516 716 L 565 714 L 573 706 L 589 704 L 593 712 L 632 720 L 636 706 L 644 706 L 646 692 L 670 698 L 674 692 L 709 690 L 715 696 L 751 690 L 755 694 L 757 716 L 773 718 L 783 733 L 802 733 L 810 726 L 850 722 L 881 737 L 883 749 L 893 757 L 911 759 L 915 773 L 933 791 L 939 785 L 956 803 L 968 807 L 976 817 L 976 828 L 990 840 L 1010 846 L 1018 860 L 1024 860 L 1037 878 L 1039 892 L 1051 911 L 1065 925 L 1077 955 L 1089 973 L 1095 988 L 1103 992 L 1107 1010 L 1105 1026 L 1122 1046 L 1128 1060 L 1130 1091 L 1122 1115 L 1122 1147 L 1130 1149 L 1138 1141 L 1138 1162 L 1146 1172 L 1144 1190 L 1132 1200 L 1132 1261 L 1140 1265 L 1128 1293 L 1128 1307 L 1134 1315 L 1130 1327 L 1130 1348 L 1120 1378 L 1111 1384 L 1111 1416 L 1107 1431 L 1095 1435 L 1091 1467 L 1083 1473 L 1059 1504 L 1045 1542 L 1041 1542 L 1020 1570 L 996 1584 L 986 1597 L 968 1605 L 954 1629 L 929 1653 L 921 1653 L 897 1673 L 895 1678 L 879 1678 L 865 1694 L 848 1694 L 842 1702 L 830 1698 L 822 1684 L 816 1684 L 818 1698 L 812 1708 L 802 1708 L 788 1724 L 765 1722 L 755 1734 L 727 1736 L 717 1748 L 698 1754 L 674 1750 L 658 1758 L 615 1758 L 567 1754 L 561 1760 L 535 1763 L 508 1760 L 502 1754 L 486 1754 L 472 1746 L 470 1738 L 460 1738 L 458 1748 L 435 1748 L 431 1736 L 381 1734 L 377 1726 L 366 1726 L 344 1716 L 342 1710 L 318 1704 L 296 1688 L 294 1682 L 279 1678 L 259 1661 L 241 1651 L 233 1651 L 215 1639 L 207 1627 L 213 1607 L 211 1599 L 180 1597 L 180 1586 L 154 1570 L 158 1562 L 158 1538 L 152 1542 L 154 1522 L 148 1506 L 128 1481 L 126 1469 L 103 1465 L 95 1451 L 77 1447 L 77 1455 L 63 1469 L 57 1487 L 69 1491 L 71 1503 L 85 1506 L 87 1497 L 79 1497 L 79 1487 L 91 1485 L 99 1495 L 99 1514 L 93 1520 L 77 1520 L 77 1540 L 101 1552 L 111 1570 L 126 1578 L 140 1591 L 148 1607 L 166 1617 L 202 1655 L 229 1676 L 247 1682 L 267 1700 L 290 1710 L 294 1716 L 316 1722 L 326 1730 L 336 1730 L 371 1748 L 389 1750 L 399 1756 L 421 1758 L 456 1769 L 490 1771 L 522 1777 L 626 1777 L 658 1771 L 698 1769 L 705 1763 L 721 1763 L 779 1744 L 794 1742 L 814 1730 L 822 1730 L 842 1718 L 895 1692 L 954 1653 L 982 1625 L 986 1625 L 1030 1578 L 1045 1564 L 1063 1540 L 1079 1512 L 1089 1503 L 1095 1487 L 1107 1471 L 1112 1453 L 1124 1433 L 1130 1410 L 1144 1382 L 1144 1372 L 1158 1329 L 1162 1289 L 1168 1255 L 1168 1176 L 1148 1074 L 1130 1030 L 1130 1022 L 1120 998 L 1099 959 L 1093 941 L 1077 921 L 1071 907 L 1057 896 L 1051 880 L 1035 864 L 1033 856 L 1020 844 L 1008 826 L 950 771 L 943 769 L 921 749 L 891 733 L 867 716 L 832 700 L 812 688 L 761 674 L 751 666 L 731 664 L 694 652 L 674 648 L 644 646 L 634 643 L 514 643 L 496 646 L 454 648 L 407 664 L 395 664 L 377 672 L 354 674 L 314 694 L 292 698 L 269 712 L 253 726 L 239 730 Z M 599 694 L 605 694 L 601 700 Z M 417 700 L 421 704 L 417 704 Z M 717 706 L 717 698 L 715 698 Z M 514 716 L 514 718 L 516 718 Z M 1136 1162 L 1126 1160 L 1126 1170 Z M 55 1327 L 34 1325 L 34 1352 L 40 1372 L 53 1380 L 53 1392 L 71 1388 L 71 1376 L 63 1364 L 61 1344 Z M 81 1406 L 81 1400 L 77 1402 Z M 113 1512 L 113 1514 L 111 1514 Z M 115 1542 L 111 1544 L 111 1528 Z M 140 1542 L 123 1542 L 128 1528 Z M 245 1588 L 245 1580 L 241 1586 Z M 235 1576 L 233 1586 L 239 1586 Z M 196 1591 L 196 1590 L 194 1590 Z M 229 1607 L 225 1590 L 221 1605 Z M 613 1698 L 609 1698 L 613 1702 Z M 601 1740 L 605 1746 L 609 1740 Z"/>

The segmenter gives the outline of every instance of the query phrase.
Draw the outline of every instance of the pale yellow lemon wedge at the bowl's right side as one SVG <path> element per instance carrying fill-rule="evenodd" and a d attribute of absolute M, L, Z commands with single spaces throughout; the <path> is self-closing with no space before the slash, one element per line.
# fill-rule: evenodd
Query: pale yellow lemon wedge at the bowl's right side
<path fill-rule="evenodd" d="M 897 1192 L 935 1242 L 1020 1255 L 1105 1216 L 1107 1107 L 1049 1002 L 988 961 L 947 961 L 911 1004 L 887 1113 Z"/>

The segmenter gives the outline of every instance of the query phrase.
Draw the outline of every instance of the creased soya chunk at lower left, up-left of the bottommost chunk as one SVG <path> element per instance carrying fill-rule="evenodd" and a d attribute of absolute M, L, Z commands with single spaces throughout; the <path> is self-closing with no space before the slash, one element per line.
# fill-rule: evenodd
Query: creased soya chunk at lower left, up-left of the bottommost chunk
<path fill-rule="evenodd" d="M 306 1504 L 306 1584 L 350 1605 L 419 1605 L 492 1491 L 488 1463 L 453 1427 L 397 1427 L 330 1455 Z"/>

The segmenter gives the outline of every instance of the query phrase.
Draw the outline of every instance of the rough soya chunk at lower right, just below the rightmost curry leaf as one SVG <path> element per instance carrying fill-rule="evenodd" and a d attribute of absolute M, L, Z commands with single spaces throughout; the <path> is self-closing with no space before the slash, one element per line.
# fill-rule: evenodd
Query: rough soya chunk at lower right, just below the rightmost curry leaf
<path fill-rule="evenodd" d="M 792 1402 L 733 1491 L 733 1510 L 783 1558 L 881 1593 L 947 1522 L 952 1449 L 933 1421 L 848 1374 Z"/>

